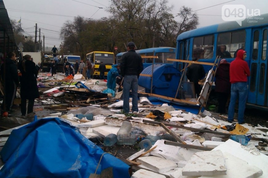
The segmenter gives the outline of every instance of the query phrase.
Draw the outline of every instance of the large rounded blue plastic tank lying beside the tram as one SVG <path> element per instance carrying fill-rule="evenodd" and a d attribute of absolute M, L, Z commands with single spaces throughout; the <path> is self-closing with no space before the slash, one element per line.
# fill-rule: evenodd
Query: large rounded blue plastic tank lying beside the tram
<path fill-rule="evenodd" d="M 152 65 L 145 68 L 141 74 L 152 75 Z M 173 66 L 154 64 L 152 93 L 174 98 L 180 83 L 181 72 Z M 145 88 L 146 93 L 151 93 L 151 78 L 140 76 L 138 85 Z"/>

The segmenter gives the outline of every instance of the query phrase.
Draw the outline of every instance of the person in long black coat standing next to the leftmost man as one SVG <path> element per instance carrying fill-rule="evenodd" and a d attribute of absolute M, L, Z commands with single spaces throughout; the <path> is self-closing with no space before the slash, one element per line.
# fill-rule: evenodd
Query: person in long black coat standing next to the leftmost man
<path fill-rule="evenodd" d="M 21 115 L 26 116 L 26 103 L 28 102 L 27 117 L 34 117 L 33 112 L 35 98 L 39 98 L 39 91 L 37 88 L 37 81 L 35 75 L 38 71 L 35 68 L 35 63 L 31 61 L 30 55 L 24 56 L 24 61 L 19 66 L 21 70 Z"/>

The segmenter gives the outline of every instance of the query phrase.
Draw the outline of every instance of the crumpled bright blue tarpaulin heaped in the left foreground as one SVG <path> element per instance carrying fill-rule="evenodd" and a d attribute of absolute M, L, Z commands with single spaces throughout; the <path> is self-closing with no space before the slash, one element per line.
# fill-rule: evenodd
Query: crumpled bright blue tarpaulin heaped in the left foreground
<path fill-rule="evenodd" d="M 0 152 L 0 177 L 130 177 L 129 166 L 59 118 L 13 130 Z M 101 161 L 100 161 L 101 159 Z M 100 164 L 99 164 L 100 161 Z M 99 164 L 99 166 L 98 166 Z"/>

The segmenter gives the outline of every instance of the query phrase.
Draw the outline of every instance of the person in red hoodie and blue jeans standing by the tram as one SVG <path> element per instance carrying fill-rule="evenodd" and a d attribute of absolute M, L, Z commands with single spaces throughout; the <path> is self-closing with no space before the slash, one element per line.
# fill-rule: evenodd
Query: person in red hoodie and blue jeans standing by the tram
<path fill-rule="evenodd" d="M 228 122 L 233 122 L 234 108 L 238 98 L 238 123 L 245 123 L 244 111 L 247 101 L 247 77 L 250 76 L 250 69 L 245 61 L 247 52 L 239 50 L 236 58 L 230 64 L 231 100 L 228 108 Z"/>

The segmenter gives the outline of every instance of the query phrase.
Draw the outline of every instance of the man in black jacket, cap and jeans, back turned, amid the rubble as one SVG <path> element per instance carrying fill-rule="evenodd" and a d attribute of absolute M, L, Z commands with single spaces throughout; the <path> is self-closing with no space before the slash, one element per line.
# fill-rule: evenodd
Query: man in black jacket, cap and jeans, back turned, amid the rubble
<path fill-rule="evenodd" d="M 141 56 L 135 52 L 135 43 L 127 44 L 127 53 L 121 58 L 121 75 L 123 82 L 123 112 L 129 113 L 129 93 L 132 91 L 132 112 L 138 112 L 138 77 L 143 70 Z"/>

